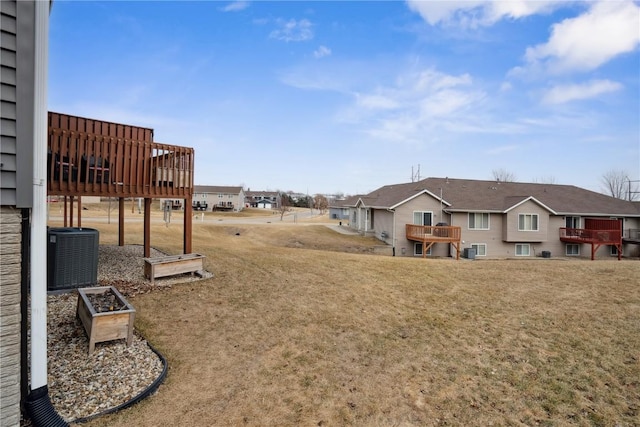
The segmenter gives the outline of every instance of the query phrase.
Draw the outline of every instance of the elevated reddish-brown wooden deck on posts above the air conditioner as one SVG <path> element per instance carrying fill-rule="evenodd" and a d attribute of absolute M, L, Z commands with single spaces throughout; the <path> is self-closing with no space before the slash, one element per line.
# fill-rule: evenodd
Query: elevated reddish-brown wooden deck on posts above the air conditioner
<path fill-rule="evenodd" d="M 149 256 L 150 207 L 154 198 L 183 199 L 184 253 L 191 252 L 194 150 L 153 141 L 153 129 L 49 112 L 47 195 L 78 201 L 81 227 L 83 196 L 119 199 L 120 244 L 124 244 L 124 200 L 145 202 L 144 251 Z"/>

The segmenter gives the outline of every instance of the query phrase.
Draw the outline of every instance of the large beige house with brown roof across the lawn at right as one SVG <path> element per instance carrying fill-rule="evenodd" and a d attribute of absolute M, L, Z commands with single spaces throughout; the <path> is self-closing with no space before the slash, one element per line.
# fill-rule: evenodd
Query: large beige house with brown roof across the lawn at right
<path fill-rule="evenodd" d="M 455 256 L 464 248 L 494 258 L 640 256 L 639 204 L 571 185 L 427 178 L 354 199 L 342 205 L 349 226 L 399 256 Z M 414 225 L 424 227 L 421 239 Z M 433 244 L 443 241 L 444 227 L 460 233 L 458 247 Z"/>

